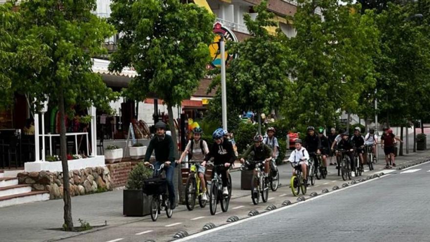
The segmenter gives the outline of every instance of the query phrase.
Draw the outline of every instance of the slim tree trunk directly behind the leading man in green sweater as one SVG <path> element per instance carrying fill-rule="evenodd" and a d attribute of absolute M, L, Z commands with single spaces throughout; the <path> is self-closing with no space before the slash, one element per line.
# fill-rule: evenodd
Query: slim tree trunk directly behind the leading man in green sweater
<path fill-rule="evenodd" d="M 167 111 L 169 114 L 169 127 L 170 131 L 172 132 L 172 139 L 173 139 L 173 154 L 175 159 L 179 158 L 178 155 L 178 140 L 176 136 L 176 129 L 174 125 L 174 119 L 173 119 L 173 108 L 172 105 L 167 104 Z M 176 193 L 176 205 L 180 202 L 181 204 L 185 202 L 185 188 L 182 186 L 182 174 L 181 174 L 181 166 L 177 166 L 175 169 L 174 177 L 173 177 L 173 184 L 175 187 L 175 193 Z"/>

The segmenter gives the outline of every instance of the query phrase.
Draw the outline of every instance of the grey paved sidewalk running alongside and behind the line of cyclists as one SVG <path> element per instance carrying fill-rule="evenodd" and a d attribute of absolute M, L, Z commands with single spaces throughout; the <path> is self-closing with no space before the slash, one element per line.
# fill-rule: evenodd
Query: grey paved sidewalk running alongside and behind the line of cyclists
<path fill-rule="evenodd" d="M 405 163 L 412 163 L 411 160 L 422 160 L 429 156 L 430 150 L 426 152 L 410 153 L 409 155 L 399 156 L 396 159 L 397 167 L 401 167 Z M 380 158 L 377 166 L 375 167 L 375 170 L 370 173 L 384 172 L 383 165 L 385 165 L 385 162 Z M 288 183 L 288 178 L 291 176 L 291 166 L 289 164 L 285 164 L 279 166 L 279 168 L 281 175 L 281 183 L 285 185 Z M 335 171 L 334 167 L 330 167 L 329 169 L 330 170 L 328 178 L 339 180 L 339 177 L 337 176 L 337 172 Z M 233 180 L 232 199 L 242 199 L 244 196 L 249 196 L 249 191 L 240 190 L 240 172 L 232 172 L 231 174 Z M 364 177 L 366 176 L 368 175 L 365 175 Z M 323 185 L 323 182 L 318 182 L 319 185 Z M 330 183 L 330 185 L 327 186 L 333 186 L 332 184 L 334 183 Z M 321 186 L 318 187 L 318 192 L 320 192 L 322 188 L 323 187 Z M 281 192 L 282 191 L 288 192 L 287 188 L 282 188 Z M 103 225 L 105 224 L 106 220 L 108 225 L 110 225 L 108 227 L 136 221 L 148 220 L 148 216 L 124 217 L 122 215 L 122 192 L 122 190 L 117 190 L 101 194 L 72 197 L 72 215 L 75 226 L 80 225 L 78 219 L 86 220 L 92 226 Z M 285 199 L 287 197 L 283 198 Z M 293 199 L 293 197 L 288 199 Z M 246 203 L 243 203 L 243 205 L 249 204 L 250 199 L 246 198 L 244 200 L 246 200 Z M 264 206 L 265 204 L 262 205 Z M 251 205 L 246 206 L 251 207 Z M 175 209 L 175 218 L 181 219 L 184 218 L 184 216 L 195 216 L 195 213 L 188 211 L 186 212 L 185 210 L 186 208 L 184 205 L 181 205 L 177 209 Z M 229 211 L 228 215 L 235 215 L 235 211 L 236 210 Z M 205 211 L 205 215 L 207 214 L 206 212 L 207 211 Z M 49 228 L 60 228 L 63 224 L 62 199 L 0 208 L 0 216 L 0 241 L 4 242 L 53 241 L 80 234 L 75 232 L 48 230 Z M 200 222 L 203 222 L 203 220 Z M 150 223 L 149 221 L 147 223 L 151 224 L 152 226 L 155 225 L 153 223 Z M 154 228 L 154 230 L 155 229 L 162 230 L 165 228 L 160 227 Z M 101 230 L 100 232 L 102 231 L 103 230 Z"/>

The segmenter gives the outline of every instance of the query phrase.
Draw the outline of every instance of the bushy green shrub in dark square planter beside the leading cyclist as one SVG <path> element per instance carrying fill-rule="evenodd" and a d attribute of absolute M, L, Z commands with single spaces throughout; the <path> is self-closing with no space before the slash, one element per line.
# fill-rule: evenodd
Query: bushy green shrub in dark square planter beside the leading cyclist
<path fill-rule="evenodd" d="M 126 188 L 123 190 L 123 214 L 126 216 L 145 216 L 151 214 L 152 196 L 143 193 L 144 179 L 152 176 L 152 170 L 143 162 L 131 170 Z"/>

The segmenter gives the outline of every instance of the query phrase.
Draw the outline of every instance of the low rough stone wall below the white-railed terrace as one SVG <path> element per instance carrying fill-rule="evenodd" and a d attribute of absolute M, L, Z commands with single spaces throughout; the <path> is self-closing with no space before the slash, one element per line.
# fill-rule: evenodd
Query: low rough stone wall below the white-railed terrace
<path fill-rule="evenodd" d="M 92 167 L 70 171 L 70 195 L 79 196 L 112 190 L 110 171 L 107 167 Z M 62 172 L 22 172 L 19 184 L 29 184 L 33 190 L 49 191 L 50 199 L 63 198 Z"/>

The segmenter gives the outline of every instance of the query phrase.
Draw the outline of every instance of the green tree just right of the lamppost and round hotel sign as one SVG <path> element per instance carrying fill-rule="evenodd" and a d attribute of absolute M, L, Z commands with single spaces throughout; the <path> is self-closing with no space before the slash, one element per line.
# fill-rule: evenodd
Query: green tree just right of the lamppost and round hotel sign
<path fill-rule="evenodd" d="M 249 14 L 244 16 L 252 38 L 230 43 L 229 52 L 237 54 L 237 58 L 232 60 L 226 70 L 228 109 L 239 113 L 242 110 L 254 110 L 258 117 L 262 112 L 270 112 L 284 103 L 292 86 L 288 79 L 292 52 L 281 43 L 279 35 L 283 33 L 278 31 L 278 35 L 274 36 L 266 30 L 267 26 L 277 26 L 271 20 L 274 14 L 267 11 L 266 5 L 267 0 L 263 0 L 254 7 L 258 13 L 256 20 L 252 20 Z M 218 76 L 212 87 L 219 84 Z M 261 133 L 261 122 L 258 122 L 258 132 Z"/>

